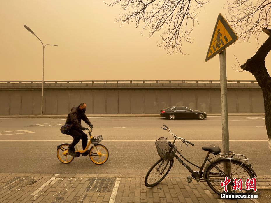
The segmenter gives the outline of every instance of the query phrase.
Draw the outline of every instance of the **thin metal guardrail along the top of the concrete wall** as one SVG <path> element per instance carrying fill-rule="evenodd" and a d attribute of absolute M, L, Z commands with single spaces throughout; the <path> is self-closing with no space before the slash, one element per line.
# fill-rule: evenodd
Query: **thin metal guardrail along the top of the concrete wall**
<path fill-rule="evenodd" d="M 220 82 L 220 80 L 47 80 L 44 81 L 44 83 L 133 83 L 133 82 L 141 82 L 141 83 L 148 83 L 148 82 L 182 82 L 182 83 L 201 83 L 201 82 L 208 82 L 208 83 L 213 83 L 213 82 Z M 240 83 L 240 82 L 250 82 L 250 83 L 257 83 L 256 80 L 227 80 L 227 82 L 233 82 L 233 83 Z M 41 80 L 36 80 L 36 81 L 0 81 L 0 83 L 42 83 Z"/>

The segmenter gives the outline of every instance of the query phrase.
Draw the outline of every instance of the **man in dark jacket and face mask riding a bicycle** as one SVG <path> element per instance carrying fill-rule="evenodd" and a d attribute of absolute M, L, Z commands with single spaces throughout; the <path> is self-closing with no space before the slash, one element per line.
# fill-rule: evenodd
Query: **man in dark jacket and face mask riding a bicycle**
<path fill-rule="evenodd" d="M 73 137 L 73 142 L 69 146 L 68 153 L 70 155 L 75 156 L 75 148 L 74 146 L 82 139 L 82 147 L 83 149 L 87 146 L 87 134 L 84 133 L 82 130 L 86 130 L 83 126 L 81 126 L 81 120 L 85 121 L 89 127 L 93 127 L 87 116 L 85 115 L 87 105 L 86 103 L 81 103 L 78 107 L 73 107 L 71 109 L 71 112 L 68 114 L 66 124 L 73 124 L 68 135 L 71 135 Z M 89 151 L 87 150 L 85 153 L 83 153 L 83 156 L 87 156 L 89 154 Z"/>

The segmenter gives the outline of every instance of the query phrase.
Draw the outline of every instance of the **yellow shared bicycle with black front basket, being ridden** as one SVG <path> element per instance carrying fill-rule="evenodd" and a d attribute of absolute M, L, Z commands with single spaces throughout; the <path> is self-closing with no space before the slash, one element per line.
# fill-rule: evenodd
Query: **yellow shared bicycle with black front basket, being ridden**
<path fill-rule="evenodd" d="M 102 135 L 92 137 L 91 135 L 92 128 L 91 128 L 91 131 L 88 128 L 87 130 L 89 131 L 89 137 L 90 137 L 89 143 L 87 144 L 84 150 L 75 151 L 76 157 L 79 157 L 80 154 L 86 152 L 89 146 L 93 144 L 93 146 L 91 146 L 89 150 L 90 160 L 95 164 L 105 163 L 108 160 L 109 152 L 108 152 L 108 149 L 104 145 L 99 144 L 103 140 Z M 57 158 L 62 163 L 71 163 L 75 157 L 68 153 L 69 146 L 70 144 L 68 143 L 63 143 L 57 146 Z"/>

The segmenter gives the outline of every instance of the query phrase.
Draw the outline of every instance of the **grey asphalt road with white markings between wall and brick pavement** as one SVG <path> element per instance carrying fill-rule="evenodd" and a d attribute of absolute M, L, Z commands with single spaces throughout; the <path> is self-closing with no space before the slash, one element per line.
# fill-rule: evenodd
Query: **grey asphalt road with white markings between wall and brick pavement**
<path fill-rule="evenodd" d="M 80 156 L 72 163 L 63 164 L 56 156 L 57 145 L 71 143 L 72 137 L 61 134 L 63 119 L 24 118 L 0 119 L 0 173 L 53 174 L 131 174 L 144 176 L 159 159 L 155 140 L 170 137 L 160 127 L 166 124 L 176 135 L 191 140 L 195 146 L 182 145 L 182 154 L 201 165 L 206 152 L 202 146 L 217 144 L 222 148 L 221 117 L 204 120 L 180 119 L 170 121 L 161 117 L 103 117 L 89 118 L 94 125 L 93 135 L 103 135 L 109 150 L 104 165 L 95 165 L 89 157 Z M 85 123 L 83 126 L 87 127 Z M 20 133 L 20 134 L 18 134 Z M 230 150 L 244 154 L 258 175 L 271 174 L 271 155 L 268 149 L 263 116 L 229 117 Z M 81 146 L 81 143 L 79 143 Z M 177 144 L 178 150 L 181 149 Z M 170 174 L 189 172 L 180 163 Z"/>

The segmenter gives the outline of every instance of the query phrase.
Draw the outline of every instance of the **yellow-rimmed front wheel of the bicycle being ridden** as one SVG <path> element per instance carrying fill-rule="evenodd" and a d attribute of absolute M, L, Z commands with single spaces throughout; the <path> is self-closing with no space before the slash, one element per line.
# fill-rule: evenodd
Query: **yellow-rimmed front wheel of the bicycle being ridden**
<path fill-rule="evenodd" d="M 103 164 L 108 160 L 108 149 L 102 144 L 95 144 L 89 150 L 89 158 L 95 164 Z"/>

